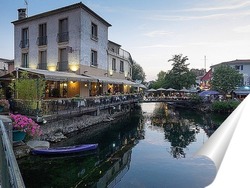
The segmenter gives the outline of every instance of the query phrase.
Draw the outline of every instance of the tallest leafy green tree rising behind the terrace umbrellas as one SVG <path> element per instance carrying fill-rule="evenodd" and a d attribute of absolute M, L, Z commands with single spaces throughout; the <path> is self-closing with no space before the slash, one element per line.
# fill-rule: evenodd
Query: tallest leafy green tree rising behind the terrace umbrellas
<path fill-rule="evenodd" d="M 186 64 L 187 56 L 182 57 L 182 54 L 174 55 L 172 59 L 173 68 L 166 74 L 165 87 L 172 87 L 175 89 L 182 89 L 183 87 L 189 88 L 195 84 L 196 76 L 188 68 Z"/>

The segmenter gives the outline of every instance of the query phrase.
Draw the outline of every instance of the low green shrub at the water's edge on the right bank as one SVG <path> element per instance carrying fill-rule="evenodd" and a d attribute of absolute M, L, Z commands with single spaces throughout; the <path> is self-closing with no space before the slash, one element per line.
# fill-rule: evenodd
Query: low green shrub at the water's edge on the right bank
<path fill-rule="evenodd" d="M 212 104 L 212 111 L 214 112 L 232 112 L 240 104 L 239 101 L 229 100 L 229 101 L 215 101 Z"/>

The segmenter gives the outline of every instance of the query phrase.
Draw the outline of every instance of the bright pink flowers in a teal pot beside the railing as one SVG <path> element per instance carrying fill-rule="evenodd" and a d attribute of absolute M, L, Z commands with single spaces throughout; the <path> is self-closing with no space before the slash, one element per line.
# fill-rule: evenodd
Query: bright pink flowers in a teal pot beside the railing
<path fill-rule="evenodd" d="M 41 127 L 31 118 L 21 114 L 10 114 L 13 124 L 13 141 L 21 141 L 26 134 L 30 137 L 40 136 Z"/>

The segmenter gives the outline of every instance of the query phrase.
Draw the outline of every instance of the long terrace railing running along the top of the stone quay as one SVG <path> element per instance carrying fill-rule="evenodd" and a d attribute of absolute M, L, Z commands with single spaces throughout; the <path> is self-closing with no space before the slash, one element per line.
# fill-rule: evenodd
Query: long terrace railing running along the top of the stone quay
<path fill-rule="evenodd" d="M 97 96 L 87 98 L 55 98 L 42 101 L 15 100 L 15 111 L 25 115 L 53 115 L 71 114 L 72 112 L 86 112 L 91 109 L 106 109 L 110 106 L 138 102 L 140 96 L 137 94 Z M 33 108 L 30 108 L 33 106 Z M 34 108 L 36 107 L 36 108 Z"/>

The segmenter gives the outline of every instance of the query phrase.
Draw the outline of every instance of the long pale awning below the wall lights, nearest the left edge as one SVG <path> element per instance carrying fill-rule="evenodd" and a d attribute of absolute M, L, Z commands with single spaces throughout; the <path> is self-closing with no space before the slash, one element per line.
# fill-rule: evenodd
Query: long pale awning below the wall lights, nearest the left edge
<path fill-rule="evenodd" d="M 45 80 L 51 81 L 96 81 L 88 76 L 78 75 L 70 72 L 48 71 L 42 69 L 18 68 L 33 74 L 43 75 Z"/>

